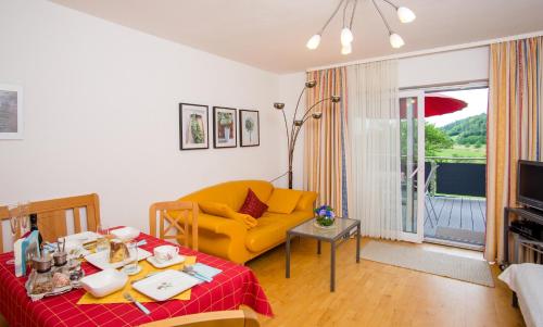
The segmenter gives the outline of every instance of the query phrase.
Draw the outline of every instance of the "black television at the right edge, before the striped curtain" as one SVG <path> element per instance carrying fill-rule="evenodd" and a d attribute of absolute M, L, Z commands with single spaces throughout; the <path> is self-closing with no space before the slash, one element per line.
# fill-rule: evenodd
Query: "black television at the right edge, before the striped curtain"
<path fill-rule="evenodd" d="M 517 201 L 543 210 L 543 162 L 518 161 Z"/>

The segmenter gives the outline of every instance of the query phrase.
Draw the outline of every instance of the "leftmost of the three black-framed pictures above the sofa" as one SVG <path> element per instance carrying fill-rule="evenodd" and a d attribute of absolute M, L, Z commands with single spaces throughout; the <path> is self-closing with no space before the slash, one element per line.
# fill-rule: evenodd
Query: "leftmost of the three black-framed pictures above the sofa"
<path fill-rule="evenodd" d="M 179 133 L 181 150 L 209 149 L 209 106 L 179 103 Z"/>

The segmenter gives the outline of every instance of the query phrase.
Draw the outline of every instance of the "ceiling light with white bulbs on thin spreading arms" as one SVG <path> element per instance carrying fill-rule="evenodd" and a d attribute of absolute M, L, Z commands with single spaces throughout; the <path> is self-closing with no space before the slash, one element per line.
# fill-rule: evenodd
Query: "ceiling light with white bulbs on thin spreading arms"
<path fill-rule="evenodd" d="M 326 21 L 323 28 L 320 28 L 320 30 L 317 34 L 315 34 L 314 36 L 311 37 L 311 39 L 306 43 L 306 47 L 310 50 L 315 50 L 318 48 L 318 46 L 320 45 L 320 38 L 323 36 L 323 33 L 325 32 L 326 27 L 330 24 L 332 18 L 336 16 L 336 14 L 340 10 L 341 5 L 343 5 L 343 28 L 341 29 L 341 34 L 340 34 L 341 54 L 351 53 L 353 51 L 352 50 L 353 49 L 352 42 L 354 40 L 354 36 L 353 36 L 353 32 L 352 32 L 353 30 L 354 13 L 356 12 L 356 4 L 358 3 L 358 1 L 359 0 L 340 0 L 340 2 L 338 3 L 338 7 L 336 7 L 336 10 L 331 14 L 331 16 L 328 18 L 328 21 Z M 394 4 L 390 0 L 381 0 L 381 1 L 383 1 L 384 3 L 388 3 L 392 8 L 394 8 L 396 11 L 397 18 L 400 20 L 400 22 L 402 22 L 404 24 L 411 23 L 411 22 L 415 21 L 415 18 L 417 17 L 415 15 L 415 13 L 411 9 L 408 9 L 407 7 L 397 7 L 396 4 Z M 394 49 L 402 48 L 405 45 L 404 40 L 402 39 L 402 37 L 399 34 L 394 33 L 392 30 L 392 28 L 390 28 L 389 22 L 384 17 L 379 5 L 377 5 L 376 0 L 371 0 L 371 2 L 374 3 L 375 9 L 379 13 L 379 16 L 381 17 L 382 22 L 384 23 L 384 26 L 387 27 L 387 30 L 389 33 L 390 45 Z M 351 4 L 351 8 L 349 8 L 350 4 Z M 348 14 L 349 10 L 351 11 L 351 20 L 350 20 L 349 24 L 346 24 L 348 23 L 346 22 L 346 14 Z"/>

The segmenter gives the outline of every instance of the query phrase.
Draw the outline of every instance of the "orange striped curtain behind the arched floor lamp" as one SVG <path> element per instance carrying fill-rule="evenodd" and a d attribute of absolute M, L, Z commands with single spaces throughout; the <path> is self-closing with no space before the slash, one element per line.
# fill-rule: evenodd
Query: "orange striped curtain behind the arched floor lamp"
<path fill-rule="evenodd" d="M 318 192 L 317 204 L 330 205 L 336 214 L 348 215 L 346 172 L 346 73 L 345 67 L 307 73 L 317 86 L 308 89 L 306 105 L 340 96 L 332 104 L 325 101 L 313 109 L 320 120 L 308 120 L 304 126 L 304 187 Z"/>

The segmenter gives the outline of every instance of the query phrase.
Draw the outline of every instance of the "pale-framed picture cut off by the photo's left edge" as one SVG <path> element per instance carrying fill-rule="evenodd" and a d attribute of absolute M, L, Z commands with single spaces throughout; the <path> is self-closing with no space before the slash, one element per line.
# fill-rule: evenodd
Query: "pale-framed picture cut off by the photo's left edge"
<path fill-rule="evenodd" d="M 0 139 L 23 139 L 23 88 L 0 84 Z"/>

